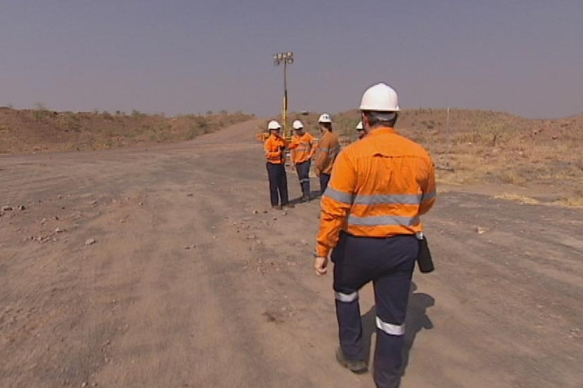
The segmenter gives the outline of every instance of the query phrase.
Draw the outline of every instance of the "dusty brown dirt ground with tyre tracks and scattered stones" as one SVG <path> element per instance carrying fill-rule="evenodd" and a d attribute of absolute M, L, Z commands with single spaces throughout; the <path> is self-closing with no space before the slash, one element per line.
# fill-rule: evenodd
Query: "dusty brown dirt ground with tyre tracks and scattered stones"
<path fill-rule="evenodd" d="M 258 124 L 0 157 L 1 387 L 373 387 L 334 360 L 318 202 L 270 210 Z M 448 188 L 425 224 L 402 386 L 581 387 L 582 211 Z"/>

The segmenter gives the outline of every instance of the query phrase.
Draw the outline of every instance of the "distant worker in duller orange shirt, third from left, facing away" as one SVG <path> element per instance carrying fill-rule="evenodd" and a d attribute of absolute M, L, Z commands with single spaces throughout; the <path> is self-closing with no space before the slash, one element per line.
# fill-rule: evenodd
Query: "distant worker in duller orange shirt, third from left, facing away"
<path fill-rule="evenodd" d="M 328 113 L 323 113 L 318 119 L 322 137 L 318 142 L 315 155 L 315 173 L 320 177 L 320 193 L 323 194 L 330 181 L 332 166 L 340 152 L 340 139 L 332 132 L 332 119 Z"/>

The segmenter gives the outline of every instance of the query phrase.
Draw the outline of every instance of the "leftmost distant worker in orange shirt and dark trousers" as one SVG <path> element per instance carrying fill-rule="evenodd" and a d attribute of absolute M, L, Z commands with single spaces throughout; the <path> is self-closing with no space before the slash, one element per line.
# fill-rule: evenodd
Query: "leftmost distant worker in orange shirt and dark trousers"
<path fill-rule="evenodd" d="M 288 179 L 286 177 L 286 139 L 281 137 L 281 126 L 271 120 L 267 126 L 269 137 L 263 144 L 267 158 L 267 175 L 269 177 L 269 194 L 271 207 L 281 210 L 284 206 L 293 207 L 288 198 Z"/>

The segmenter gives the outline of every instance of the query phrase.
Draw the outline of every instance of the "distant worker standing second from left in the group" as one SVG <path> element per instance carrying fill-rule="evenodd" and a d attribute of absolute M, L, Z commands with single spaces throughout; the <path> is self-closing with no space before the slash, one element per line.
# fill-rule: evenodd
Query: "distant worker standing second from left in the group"
<path fill-rule="evenodd" d="M 295 134 L 288 148 L 292 152 L 292 163 L 295 166 L 299 186 L 302 187 L 302 201 L 310 200 L 310 164 L 314 153 L 315 138 L 304 132 L 304 124 L 295 120 L 292 124 Z"/>

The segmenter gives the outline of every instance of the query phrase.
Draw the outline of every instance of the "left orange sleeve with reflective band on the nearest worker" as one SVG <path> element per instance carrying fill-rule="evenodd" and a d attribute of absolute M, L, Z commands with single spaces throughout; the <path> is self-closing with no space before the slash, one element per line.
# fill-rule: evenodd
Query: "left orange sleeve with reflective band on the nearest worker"
<path fill-rule="evenodd" d="M 332 176 L 320 201 L 320 231 L 316 237 L 316 255 L 328 257 L 336 246 L 340 231 L 352 207 L 356 170 L 349 153 L 341 152 L 332 168 Z"/>

